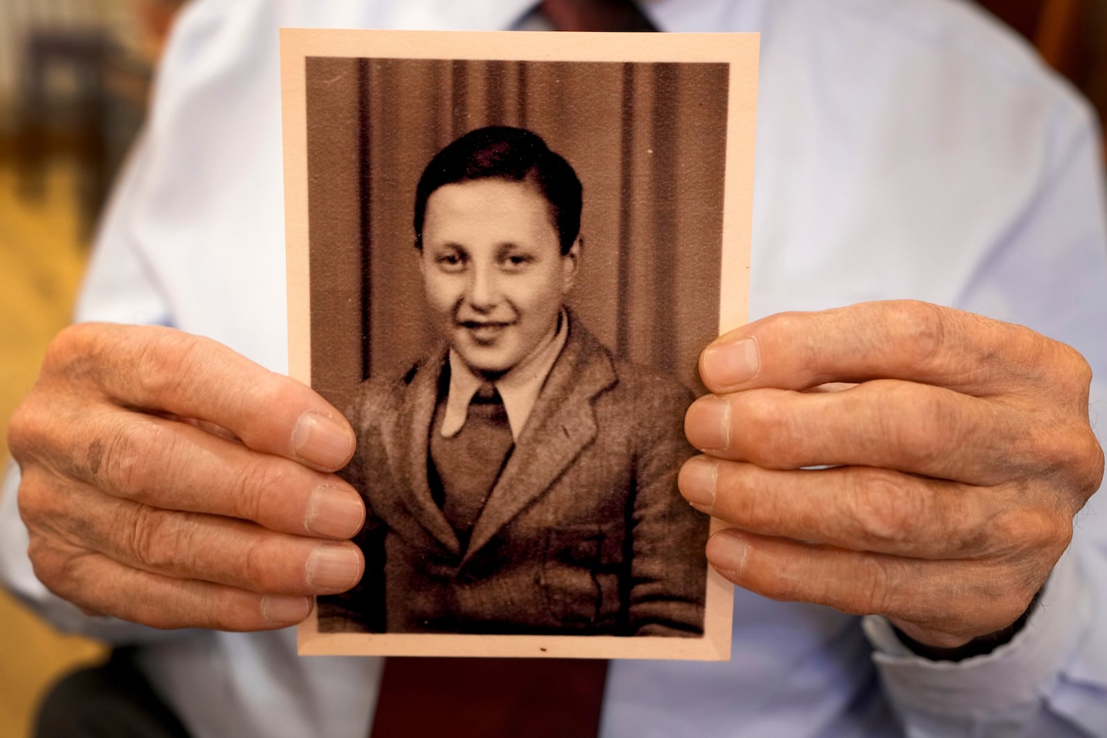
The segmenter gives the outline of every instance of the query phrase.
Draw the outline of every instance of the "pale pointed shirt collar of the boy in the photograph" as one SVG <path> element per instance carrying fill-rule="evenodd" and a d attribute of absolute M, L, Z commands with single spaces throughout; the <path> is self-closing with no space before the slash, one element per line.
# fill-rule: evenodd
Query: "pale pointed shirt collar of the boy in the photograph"
<path fill-rule="evenodd" d="M 519 440 L 530 410 L 538 402 L 538 393 L 554 368 L 554 362 L 561 354 L 569 337 L 569 316 L 561 311 L 558 330 L 554 340 L 528 356 L 518 366 L 493 383 L 504 399 L 507 423 L 511 426 L 511 438 Z M 446 417 L 442 420 L 442 435 L 452 438 L 461 432 L 469 413 L 469 403 L 480 385 L 485 383 L 475 375 L 465 360 L 453 349 L 449 350 L 449 389 L 446 394 Z"/>

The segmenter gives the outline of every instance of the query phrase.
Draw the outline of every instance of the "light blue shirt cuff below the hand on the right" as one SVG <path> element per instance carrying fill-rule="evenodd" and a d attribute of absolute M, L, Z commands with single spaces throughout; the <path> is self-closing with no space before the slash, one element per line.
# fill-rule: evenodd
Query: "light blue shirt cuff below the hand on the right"
<path fill-rule="evenodd" d="M 872 658 L 897 710 L 979 718 L 1039 701 L 1092 617 L 1075 559 L 1072 550 L 1061 558 L 1014 638 L 990 654 L 962 662 L 918 656 L 900 642 L 887 619 L 866 616 L 862 627 L 876 649 Z"/>

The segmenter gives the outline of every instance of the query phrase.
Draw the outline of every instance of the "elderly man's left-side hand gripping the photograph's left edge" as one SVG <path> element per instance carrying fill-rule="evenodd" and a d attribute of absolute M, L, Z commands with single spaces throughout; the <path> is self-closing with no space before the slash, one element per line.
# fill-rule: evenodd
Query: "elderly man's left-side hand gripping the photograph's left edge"
<path fill-rule="evenodd" d="M 90 614 L 266 630 L 353 586 L 354 436 L 302 384 L 213 341 L 76 325 L 12 416 L 39 579 Z"/>

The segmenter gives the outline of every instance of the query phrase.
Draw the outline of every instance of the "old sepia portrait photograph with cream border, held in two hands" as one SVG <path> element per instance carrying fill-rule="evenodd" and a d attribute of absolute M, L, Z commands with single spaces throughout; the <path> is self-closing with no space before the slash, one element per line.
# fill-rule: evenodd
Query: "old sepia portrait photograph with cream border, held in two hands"
<path fill-rule="evenodd" d="M 566 35 L 282 34 L 290 367 L 368 511 L 302 654 L 728 656 L 676 476 L 744 320 L 756 39 Z"/>

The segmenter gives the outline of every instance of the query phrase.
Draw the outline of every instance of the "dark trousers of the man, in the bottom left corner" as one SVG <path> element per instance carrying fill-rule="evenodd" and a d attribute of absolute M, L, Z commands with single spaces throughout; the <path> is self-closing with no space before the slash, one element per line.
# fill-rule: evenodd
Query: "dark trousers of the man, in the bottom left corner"
<path fill-rule="evenodd" d="M 35 738 L 188 738 L 151 687 L 134 652 L 118 648 L 103 666 L 74 672 L 46 694 Z"/>

